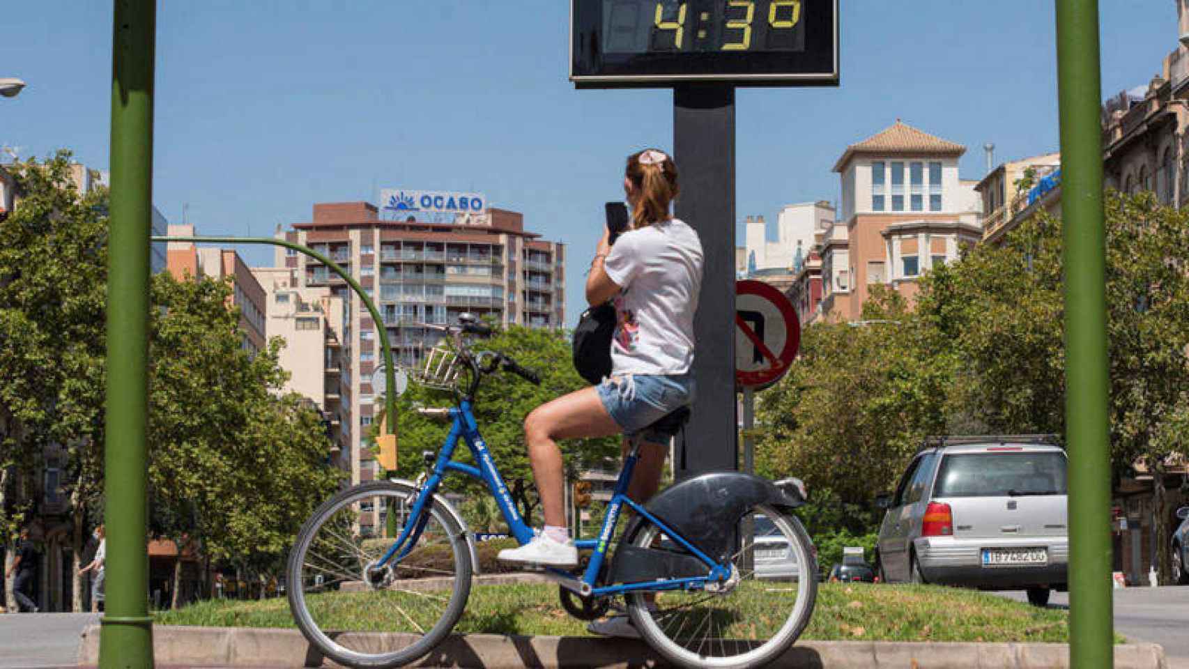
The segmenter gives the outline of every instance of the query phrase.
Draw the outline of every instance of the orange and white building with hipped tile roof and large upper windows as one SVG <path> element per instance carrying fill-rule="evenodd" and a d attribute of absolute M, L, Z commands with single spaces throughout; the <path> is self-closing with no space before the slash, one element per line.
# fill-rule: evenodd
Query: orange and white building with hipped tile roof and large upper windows
<path fill-rule="evenodd" d="M 982 239 L 976 182 L 958 176 L 963 153 L 899 119 L 847 147 L 833 165 L 845 236 L 831 234 L 822 252 L 823 317 L 860 318 L 875 284 L 911 301 L 923 272 Z"/>

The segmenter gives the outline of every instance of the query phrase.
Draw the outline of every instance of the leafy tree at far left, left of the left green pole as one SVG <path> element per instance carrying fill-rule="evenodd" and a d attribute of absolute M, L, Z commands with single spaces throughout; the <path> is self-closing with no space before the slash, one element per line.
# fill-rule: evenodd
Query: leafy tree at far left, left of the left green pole
<path fill-rule="evenodd" d="M 13 474 L 32 476 L 46 447 L 68 448 L 78 567 L 82 526 L 101 494 L 107 194 L 80 195 L 69 158 L 14 164 L 19 206 L 0 225 L 0 520 L 11 542 L 31 501 L 12 493 L 37 488 L 12 485 Z"/>

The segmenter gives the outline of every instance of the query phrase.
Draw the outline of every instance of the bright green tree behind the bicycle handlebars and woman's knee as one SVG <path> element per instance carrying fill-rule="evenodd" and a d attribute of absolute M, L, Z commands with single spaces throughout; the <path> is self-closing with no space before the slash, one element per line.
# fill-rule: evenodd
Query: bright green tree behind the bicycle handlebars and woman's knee
<path fill-rule="evenodd" d="M 497 332 L 490 340 L 472 342 L 472 346 L 476 351 L 490 349 L 505 353 L 541 375 L 541 385 L 534 386 L 510 373 L 496 374 L 479 390 L 474 406 L 476 421 L 491 450 L 491 456 L 499 467 L 524 522 L 530 523 L 540 500 L 533 485 L 533 471 L 524 446 L 524 417 L 541 404 L 580 390 L 586 384 L 574 371 L 570 341 L 560 332 L 511 326 L 507 330 Z M 398 475 L 416 478 L 424 469 L 421 453 L 436 452 L 449 431 L 447 424 L 420 416 L 413 409 L 417 405 L 443 406 L 449 402 L 447 393 L 428 390 L 417 384 L 411 384 L 401 397 L 397 404 L 400 461 L 396 473 Z M 619 441 L 616 437 L 578 440 L 562 442 L 560 446 L 571 473 L 570 478 L 590 465 L 618 455 L 619 450 Z M 473 462 L 468 449 L 463 447 L 460 450 L 458 460 Z M 477 486 L 482 484 L 454 480 L 448 485 L 479 493 Z"/>

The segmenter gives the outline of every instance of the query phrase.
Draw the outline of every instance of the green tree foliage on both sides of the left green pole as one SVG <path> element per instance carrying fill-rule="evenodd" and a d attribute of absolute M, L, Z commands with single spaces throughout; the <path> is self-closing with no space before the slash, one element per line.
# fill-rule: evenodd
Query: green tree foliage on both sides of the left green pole
<path fill-rule="evenodd" d="M 0 472 L 31 482 L 44 447 L 65 446 L 62 487 L 81 526 L 99 519 L 103 493 L 108 220 L 106 190 L 80 195 L 70 169 L 61 152 L 12 170 L 20 200 L 0 225 Z M 216 560 L 276 563 L 340 478 L 317 415 L 278 397 L 277 343 L 244 351 L 227 285 L 161 274 L 152 290 L 149 530 L 201 542 Z M 0 481 L 5 530 L 29 509 L 12 484 Z"/>

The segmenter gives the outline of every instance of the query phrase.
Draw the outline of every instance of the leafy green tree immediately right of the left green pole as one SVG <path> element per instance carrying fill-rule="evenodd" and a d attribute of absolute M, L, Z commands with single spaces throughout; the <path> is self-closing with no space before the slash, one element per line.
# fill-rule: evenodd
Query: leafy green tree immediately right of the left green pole
<path fill-rule="evenodd" d="M 152 531 L 178 550 L 174 606 L 184 553 L 268 569 L 340 479 L 317 412 L 276 395 L 282 341 L 245 351 L 229 296 L 225 283 L 153 277 L 149 476 Z"/>

